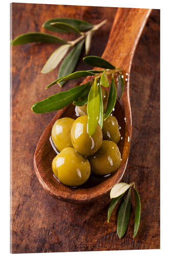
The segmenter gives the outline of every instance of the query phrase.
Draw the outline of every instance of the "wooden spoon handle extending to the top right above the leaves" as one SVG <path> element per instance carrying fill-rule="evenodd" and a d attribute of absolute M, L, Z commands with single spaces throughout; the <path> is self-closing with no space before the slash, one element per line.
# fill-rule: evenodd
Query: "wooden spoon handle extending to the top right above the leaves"
<path fill-rule="evenodd" d="M 133 55 L 151 10 L 118 8 L 102 58 L 130 73 Z"/>

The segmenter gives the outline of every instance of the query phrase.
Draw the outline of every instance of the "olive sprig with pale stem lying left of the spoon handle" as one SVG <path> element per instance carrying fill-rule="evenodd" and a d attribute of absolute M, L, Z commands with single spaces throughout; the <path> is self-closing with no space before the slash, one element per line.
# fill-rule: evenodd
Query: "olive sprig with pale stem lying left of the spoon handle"
<path fill-rule="evenodd" d="M 77 65 L 77 62 L 80 58 L 80 54 L 83 49 L 85 42 L 85 52 L 88 54 L 91 46 L 91 39 L 96 30 L 106 23 L 106 20 L 103 20 L 98 25 L 92 25 L 84 20 L 74 19 L 74 18 L 54 18 L 47 20 L 42 27 L 47 30 L 58 33 L 76 33 L 80 36 L 73 41 L 66 41 L 57 36 L 41 33 L 41 32 L 32 32 L 21 34 L 14 38 L 11 41 L 11 45 L 22 45 L 29 42 L 50 42 L 54 44 L 62 44 L 57 50 L 55 50 L 52 55 L 46 61 L 44 67 L 41 70 L 42 74 L 47 74 L 54 70 L 72 48 L 72 50 L 65 56 L 63 59 L 59 72 L 58 78 L 72 73 Z M 59 83 L 59 86 L 63 86 L 66 81 Z"/>

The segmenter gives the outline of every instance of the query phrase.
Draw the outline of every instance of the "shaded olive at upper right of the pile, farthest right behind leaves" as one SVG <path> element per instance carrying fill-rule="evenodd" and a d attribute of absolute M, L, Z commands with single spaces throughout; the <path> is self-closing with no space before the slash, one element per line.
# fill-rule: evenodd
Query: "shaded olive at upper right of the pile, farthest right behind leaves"
<path fill-rule="evenodd" d="M 102 133 L 104 140 L 112 140 L 116 144 L 119 142 L 120 132 L 115 116 L 108 116 L 108 118 L 103 122 Z"/>

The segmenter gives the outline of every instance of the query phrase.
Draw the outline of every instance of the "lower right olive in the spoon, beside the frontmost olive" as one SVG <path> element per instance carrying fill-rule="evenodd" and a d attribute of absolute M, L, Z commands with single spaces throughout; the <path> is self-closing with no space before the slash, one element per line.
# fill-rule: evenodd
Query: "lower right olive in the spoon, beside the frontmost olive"
<path fill-rule="evenodd" d="M 91 165 L 91 172 L 104 176 L 113 173 L 119 167 L 121 155 L 116 143 L 110 140 L 103 140 L 100 150 L 88 159 Z"/>

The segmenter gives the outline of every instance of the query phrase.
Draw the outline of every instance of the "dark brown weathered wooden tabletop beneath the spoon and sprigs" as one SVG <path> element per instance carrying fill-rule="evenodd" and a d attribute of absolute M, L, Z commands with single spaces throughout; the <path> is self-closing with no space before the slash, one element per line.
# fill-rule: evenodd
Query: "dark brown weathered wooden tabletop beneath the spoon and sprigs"
<path fill-rule="evenodd" d="M 12 37 L 41 31 L 42 23 L 53 17 L 74 17 L 98 24 L 89 55 L 101 56 L 109 36 L 116 8 L 38 4 L 12 4 Z M 89 205 L 74 205 L 49 196 L 39 184 L 33 167 L 36 144 L 54 113 L 35 114 L 36 101 L 63 89 L 48 83 L 58 69 L 40 73 L 56 49 L 53 44 L 12 47 L 12 172 L 11 172 L 11 252 L 61 252 L 160 248 L 160 12 L 153 10 L 139 40 L 130 81 L 133 132 L 124 182 L 135 182 L 141 197 L 141 223 L 133 236 L 134 205 L 123 239 L 116 234 L 116 210 L 107 223 L 109 196 Z M 49 32 L 51 33 L 51 32 Z M 74 39 L 72 35 L 62 36 Z M 83 56 L 83 55 L 82 55 Z M 113 63 L 114 65 L 114 63 Z M 82 60 L 77 70 L 88 69 Z"/>

